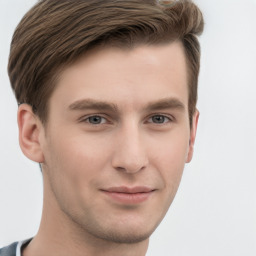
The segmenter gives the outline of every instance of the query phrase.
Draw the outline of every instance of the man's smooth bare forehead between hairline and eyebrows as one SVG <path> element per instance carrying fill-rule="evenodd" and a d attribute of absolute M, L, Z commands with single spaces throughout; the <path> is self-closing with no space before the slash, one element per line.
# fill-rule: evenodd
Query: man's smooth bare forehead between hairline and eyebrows
<path fill-rule="evenodd" d="M 142 106 L 158 99 L 188 102 L 187 67 L 179 42 L 132 49 L 94 49 L 60 74 L 52 95 L 63 108 L 83 98 L 120 106 Z"/>

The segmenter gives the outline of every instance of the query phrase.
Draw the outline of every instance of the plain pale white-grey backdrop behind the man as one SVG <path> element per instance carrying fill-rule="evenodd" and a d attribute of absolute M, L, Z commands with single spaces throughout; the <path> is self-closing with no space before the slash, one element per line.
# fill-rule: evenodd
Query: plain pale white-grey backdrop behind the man
<path fill-rule="evenodd" d="M 35 0 L 0 0 L 0 246 L 32 237 L 42 177 L 18 145 L 7 76 L 12 33 Z M 147 256 L 256 255 L 256 0 L 196 0 L 201 37 L 193 161 Z"/>

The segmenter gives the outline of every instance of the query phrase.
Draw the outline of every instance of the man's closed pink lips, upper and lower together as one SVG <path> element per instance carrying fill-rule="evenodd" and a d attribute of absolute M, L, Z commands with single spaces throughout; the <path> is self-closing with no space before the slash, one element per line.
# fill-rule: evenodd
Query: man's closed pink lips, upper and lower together
<path fill-rule="evenodd" d="M 154 193 L 155 189 L 137 186 L 137 187 L 110 187 L 101 190 L 111 200 L 121 204 L 140 204 L 147 201 Z"/>

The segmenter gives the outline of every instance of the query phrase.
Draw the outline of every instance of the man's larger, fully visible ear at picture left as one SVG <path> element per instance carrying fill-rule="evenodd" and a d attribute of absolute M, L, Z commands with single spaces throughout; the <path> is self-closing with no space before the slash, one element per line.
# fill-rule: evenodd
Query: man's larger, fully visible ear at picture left
<path fill-rule="evenodd" d="M 41 121 L 28 104 L 19 106 L 17 118 L 19 143 L 23 154 L 32 161 L 42 163 L 44 157 L 39 140 L 40 132 L 43 132 Z"/>

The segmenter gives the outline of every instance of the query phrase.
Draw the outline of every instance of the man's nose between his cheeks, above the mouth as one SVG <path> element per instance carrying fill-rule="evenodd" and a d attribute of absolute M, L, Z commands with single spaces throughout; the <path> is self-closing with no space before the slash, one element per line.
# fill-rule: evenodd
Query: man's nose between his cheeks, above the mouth
<path fill-rule="evenodd" d="M 126 173 L 137 173 L 148 165 L 145 143 L 138 127 L 127 127 L 116 135 L 112 166 Z"/>

